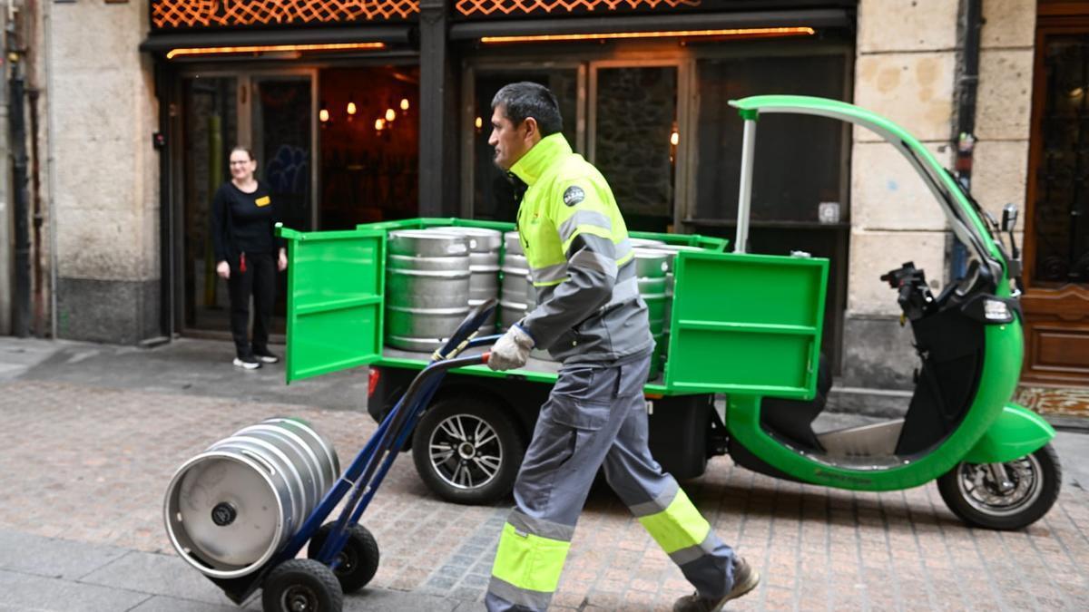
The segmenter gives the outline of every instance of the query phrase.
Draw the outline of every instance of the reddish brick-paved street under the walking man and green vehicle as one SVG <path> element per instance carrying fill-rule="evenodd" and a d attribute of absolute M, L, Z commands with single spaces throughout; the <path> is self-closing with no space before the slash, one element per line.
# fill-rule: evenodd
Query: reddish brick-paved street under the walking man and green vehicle
<path fill-rule="evenodd" d="M 173 556 L 162 527 L 173 470 L 237 428 L 287 414 L 331 437 L 342 462 L 375 430 L 359 412 L 0 384 L 0 529 L 163 553 L 176 572 L 196 574 Z M 759 590 L 732 609 L 1089 609 L 1089 493 L 1078 487 L 1066 487 L 1051 513 L 1020 533 L 966 527 L 933 486 L 853 493 L 774 480 L 725 457 L 685 488 L 722 539 L 763 574 Z M 479 601 L 506 512 L 505 503 L 438 501 L 402 457 L 364 517 L 382 551 L 371 586 Z M 554 607 L 668 610 L 688 591 L 619 501 L 596 491 Z"/>

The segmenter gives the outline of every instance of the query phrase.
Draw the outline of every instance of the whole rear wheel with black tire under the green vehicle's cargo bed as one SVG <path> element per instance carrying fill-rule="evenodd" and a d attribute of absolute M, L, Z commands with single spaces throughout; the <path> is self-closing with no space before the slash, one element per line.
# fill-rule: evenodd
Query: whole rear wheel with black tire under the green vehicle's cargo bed
<path fill-rule="evenodd" d="M 416 426 L 412 445 L 424 484 L 462 504 L 489 504 L 509 495 L 526 452 L 507 411 L 465 396 L 432 404 Z"/>

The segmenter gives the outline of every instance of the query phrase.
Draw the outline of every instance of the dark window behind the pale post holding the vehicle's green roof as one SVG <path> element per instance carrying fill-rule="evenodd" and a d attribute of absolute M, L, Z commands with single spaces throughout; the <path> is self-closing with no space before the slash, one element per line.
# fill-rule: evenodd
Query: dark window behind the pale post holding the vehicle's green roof
<path fill-rule="evenodd" d="M 744 122 L 729 100 L 763 94 L 844 98 L 844 56 L 734 58 L 697 62 L 697 219 L 737 218 Z M 843 123 L 768 114 L 757 126 L 754 221 L 818 221 L 821 201 L 841 201 Z M 841 201 L 841 220 L 846 220 Z"/>

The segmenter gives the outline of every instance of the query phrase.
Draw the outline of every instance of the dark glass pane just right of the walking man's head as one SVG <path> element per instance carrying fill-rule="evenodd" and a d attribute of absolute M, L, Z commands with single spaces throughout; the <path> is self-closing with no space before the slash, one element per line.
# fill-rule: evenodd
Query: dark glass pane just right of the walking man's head
<path fill-rule="evenodd" d="M 601 68 L 597 75 L 595 166 L 628 229 L 665 231 L 673 223 L 677 69 Z"/>

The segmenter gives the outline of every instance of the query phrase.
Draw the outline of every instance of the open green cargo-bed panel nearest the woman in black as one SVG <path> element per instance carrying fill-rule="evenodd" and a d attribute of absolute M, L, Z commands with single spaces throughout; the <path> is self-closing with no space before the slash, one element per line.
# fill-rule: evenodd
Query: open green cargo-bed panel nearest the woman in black
<path fill-rule="evenodd" d="M 386 232 L 279 232 L 287 241 L 287 382 L 381 358 Z"/>

